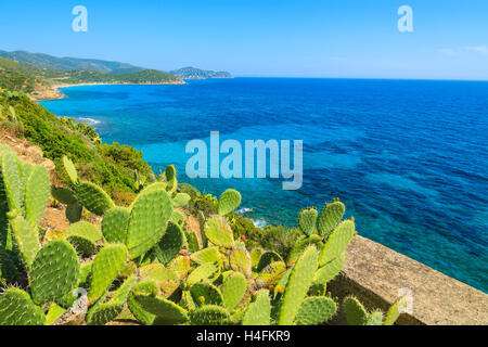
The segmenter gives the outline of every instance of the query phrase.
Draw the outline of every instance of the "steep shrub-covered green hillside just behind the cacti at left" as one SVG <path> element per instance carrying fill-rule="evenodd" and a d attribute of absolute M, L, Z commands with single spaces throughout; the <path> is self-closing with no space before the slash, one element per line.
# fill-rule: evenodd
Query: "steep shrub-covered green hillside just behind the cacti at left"
<path fill-rule="evenodd" d="M 59 118 L 26 95 L 12 95 L 0 90 L 0 138 L 24 138 L 38 145 L 56 167 L 54 182 L 68 185 L 62 168 L 67 155 L 79 166 L 84 179 L 102 185 L 124 204 L 137 192 L 134 177 L 151 180 L 151 167 L 142 152 L 118 143 L 102 144 L 95 130 L 69 118 Z"/>

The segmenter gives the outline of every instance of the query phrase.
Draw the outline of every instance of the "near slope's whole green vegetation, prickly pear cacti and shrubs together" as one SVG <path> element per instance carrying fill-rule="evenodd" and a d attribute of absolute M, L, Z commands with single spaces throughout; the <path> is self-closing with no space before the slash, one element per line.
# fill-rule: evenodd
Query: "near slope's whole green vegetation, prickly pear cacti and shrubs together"
<path fill-rule="evenodd" d="M 393 324 L 328 283 L 357 234 L 338 200 L 297 226 L 257 228 L 220 197 L 155 176 L 134 149 L 0 91 L 3 136 L 38 145 L 53 175 L 0 146 L 0 324 Z M 15 127 L 7 124 L 15 123 Z M 120 196 L 124 198 L 120 198 Z M 41 226 L 65 210 L 68 227 Z M 48 217 L 46 217 L 48 216 Z M 94 219 L 93 219 L 94 218 Z M 98 220 L 98 223 L 97 223 Z"/>

